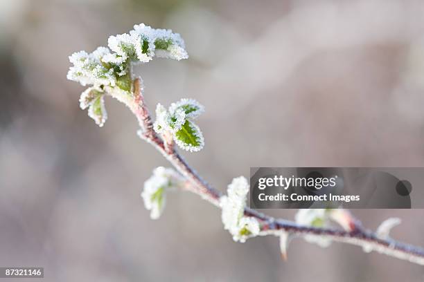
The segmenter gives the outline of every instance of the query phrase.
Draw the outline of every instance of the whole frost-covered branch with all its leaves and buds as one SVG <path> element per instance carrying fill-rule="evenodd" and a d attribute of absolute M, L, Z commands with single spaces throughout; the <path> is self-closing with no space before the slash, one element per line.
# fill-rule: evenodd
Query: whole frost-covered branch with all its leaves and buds
<path fill-rule="evenodd" d="M 99 47 L 93 53 L 80 51 L 69 57 L 73 66 L 68 78 L 83 86 L 92 85 L 80 97 L 80 107 L 99 126 L 107 120 L 105 95 L 125 104 L 136 116 L 138 135 L 153 145 L 176 169 L 159 167 L 144 185 L 141 194 L 153 219 L 159 218 L 166 203 L 166 191 L 184 189 L 222 209 L 222 223 L 234 241 L 245 242 L 254 236 L 279 236 L 281 254 L 287 257 L 288 245 L 294 236 L 301 236 L 321 247 L 333 241 L 358 245 L 365 252 L 380 252 L 398 259 L 424 265 L 424 250 L 394 241 L 389 231 L 400 223 L 389 218 L 377 232 L 364 229 L 359 220 L 345 209 L 301 209 L 295 221 L 273 218 L 246 206 L 249 184 L 244 177 L 235 178 L 227 195 L 211 187 L 178 153 L 176 145 L 186 151 L 200 151 L 204 137 L 194 120 L 204 107 L 193 99 L 182 99 L 166 109 L 157 104 L 156 120 L 144 102 L 143 82 L 133 77 L 132 66 L 145 64 L 154 57 L 186 59 L 182 38 L 171 30 L 154 29 L 143 24 L 134 26 L 129 34 L 109 37 L 109 48 Z"/>

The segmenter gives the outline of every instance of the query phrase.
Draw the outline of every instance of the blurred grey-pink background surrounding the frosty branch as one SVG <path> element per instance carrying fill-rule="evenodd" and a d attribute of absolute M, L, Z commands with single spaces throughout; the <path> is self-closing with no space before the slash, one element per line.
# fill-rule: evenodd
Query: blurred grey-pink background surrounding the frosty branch
<path fill-rule="evenodd" d="M 423 281 L 337 243 L 296 239 L 283 262 L 277 238 L 234 243 L 193 194 L 150 220 L 143 181 L 168 164 L 116 101 L 99 129 L 66 79 L 76 50 L 134 23 L 172 28 L 190 59 L 136 72 L 150 106 L 206 106 L 206 147 L 184 155 L 222 191 L 249 167 L 422 167 L 423 15 L 419 0 L 0 1 L 0 265 L 44 266 L 44 281 Z M 393 236 L 424 245 L 423 210 L 354 214 L 373 229 L 398 216 Z"/>

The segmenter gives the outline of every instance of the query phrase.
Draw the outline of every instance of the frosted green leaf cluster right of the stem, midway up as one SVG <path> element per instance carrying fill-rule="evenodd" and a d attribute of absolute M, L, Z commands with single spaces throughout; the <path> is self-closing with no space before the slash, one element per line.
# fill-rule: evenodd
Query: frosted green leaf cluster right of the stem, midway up
<path fill-rule="evenodd" d="M 175 143 L 186 151 L 200 151 L 204 147 L 204 138 L 192 119 L 203 111 L 204 107 L 193 99 L 182 99 L 171 104 L 168 110 L 157 104 L 154 131 L 159 134 L 172 133 Z"/>

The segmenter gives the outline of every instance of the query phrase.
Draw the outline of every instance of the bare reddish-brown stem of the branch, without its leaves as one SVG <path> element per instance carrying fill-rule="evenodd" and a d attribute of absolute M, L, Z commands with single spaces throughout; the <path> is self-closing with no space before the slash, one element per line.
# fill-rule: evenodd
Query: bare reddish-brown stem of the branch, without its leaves
<path fill-rule="evenodd" d="M 123 99 L 123 97 L 117 97 L 121 95 L 111 91 L 109 95 L 116 99 L 124 102 L 136 115 L 141 130 L 138 132 L 139 136 L 153 145 L 162 155 L 171 163 L 173 167 L 181 173 L 190 185 L 186 185 L 186 190 L 191 191 L 209 203 L 220 207 L 220 197 L 222 192 L 211 187 L 200 175 L 191 168 L 187 162 L 179 155 L 175 150 L 174 144 L 164 142 L 159 135 L 153 130 L 152 120 L 150 118 L 149 111 L 145 106 L 143 100 L 143 94 L 141 89 L 141 79 L 134 79 L 134 100 Z M 341 243 L 347 243 L 351 245 L 357 245 L 363 247 L 364 250 L 373 250 L 380 254 L 386 254 L 393 256 L 397 259 L 403 259 L 412 263 L 424 265 L 424 250 L 421 247 L 414 245 L 408 245 L 394 241 L 391 238 L 382 239 L 378 236 L 364 229 L 358 220 L 355 220 L 352 231 L 347 232 L 342 229 L 329 229 L 329 228 L 317 228 L 297 225 L 289 220 L 282 220 L 267 216 L 260 212 L 256 212 L 254 209 L 249 207 L 245 208 L 245 216 L 256 218 L 260 222 L 260 236 L 276 235 L 281 236 L 284 232 L 297 236 L 304 236 L 306 234 L 311 236 L 319 236 L 324 238 L 330 238 L 333 241 Z"/>

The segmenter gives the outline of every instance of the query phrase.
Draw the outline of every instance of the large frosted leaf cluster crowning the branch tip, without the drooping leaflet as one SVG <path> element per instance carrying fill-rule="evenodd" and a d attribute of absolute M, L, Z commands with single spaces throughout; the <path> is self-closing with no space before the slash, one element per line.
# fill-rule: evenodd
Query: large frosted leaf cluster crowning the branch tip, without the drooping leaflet
<path fill-rule="evenodd" d="M 91 54 L 85 51 L 73 53 L 69 57 L 73 66 L 69 68 L 67 78 L 82 86 L 115 86 L 117 79 L 119 82 L 120 77 L 128 75 L 130 64 L 150 62 L 155 55 L 177 60 L 188 58 L 179 34 L 143 23 L 135 25 L 129 34 L 110 36 L 107 43 L 110 50 L 99 47 Z M 130 77 L 124 80 L 125 91 L 130 91 L 128 80 Z"/>

